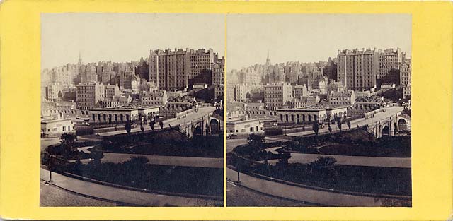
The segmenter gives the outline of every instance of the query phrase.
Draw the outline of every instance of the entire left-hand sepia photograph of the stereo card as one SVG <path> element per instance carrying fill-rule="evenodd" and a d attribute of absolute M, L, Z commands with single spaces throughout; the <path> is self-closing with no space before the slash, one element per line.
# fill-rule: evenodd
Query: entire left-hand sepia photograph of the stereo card
<path fill-rule="evenodd" d="M 224 22 L 42 13 L 40 206 L 223 206 Z"/>

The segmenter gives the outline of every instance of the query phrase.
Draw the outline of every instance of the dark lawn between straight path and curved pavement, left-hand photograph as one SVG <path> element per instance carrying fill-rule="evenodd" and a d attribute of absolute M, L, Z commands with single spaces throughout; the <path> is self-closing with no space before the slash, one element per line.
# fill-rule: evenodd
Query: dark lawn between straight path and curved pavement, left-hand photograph
<path fill-rule="evenodd" d="M 223 169 L 149 165 L 144 157 L 122 163 L 91 160 L 87 165 L 53 165 L 53 169 L 82 177 L 150 191 L 223 196 Z"/>

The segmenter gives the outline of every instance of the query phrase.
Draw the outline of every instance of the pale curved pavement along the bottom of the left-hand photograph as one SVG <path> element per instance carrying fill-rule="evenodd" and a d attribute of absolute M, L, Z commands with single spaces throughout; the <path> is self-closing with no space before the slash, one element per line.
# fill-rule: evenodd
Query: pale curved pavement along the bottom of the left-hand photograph
<path fill-rule="evenodd" d="M 40 171 L 42 180 L 49 180 L 49 172 L 46 169 Z M 132 191 L 128 189 L 117 188 L 113 186 L 104 186 L 94 184 L 89 181 L 82 181 L 71 177 L 65 177 L 62 174 L 52 172 L 52 184 L 59 186 L 62 189 L 72 191 L 74 193 L 91 196 L 93 198 L 105 199 L 107 201 L 117 201 L 132 205 L 143 206 L 214 206 L 214 203 L 219 203 L 214 200 L 206 200 L 201 198 L 188 198 L 183 196 L 168 196 L 157 193 L 146 193 L 142 191 Z M 41 193 L 42 194 L 42 193 Z M 61 193 L 55 190 L 49 190 L 45 193 L 46 197 L 58 198 Z M 59 201 L 56 204 L 61 205 L 64 201 Z M 86 203 L 80 201 L 78 204 Z M 52 204 L 52 201 L 47 201 L 47 205 Z M 68 203 L 70 204 L 70 203 Z M 88 204 L 88 203 L 87 203 Z M 57 205 L 49 205 L 57 206 Z M 69 206 L 69 205 L 64 205 Z M 80 205 L 88 206 L 88 205 Z"/>

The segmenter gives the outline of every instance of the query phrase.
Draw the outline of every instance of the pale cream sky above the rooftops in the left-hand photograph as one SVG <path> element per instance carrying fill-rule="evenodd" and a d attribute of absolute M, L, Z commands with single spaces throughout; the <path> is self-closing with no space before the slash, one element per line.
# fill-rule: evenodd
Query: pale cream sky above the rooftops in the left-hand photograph
<path fill-rule="evenodd" d="M 225 49 L 225 15 L 42 13 L 41 65 L 138 61 L 150 49 Z"/>

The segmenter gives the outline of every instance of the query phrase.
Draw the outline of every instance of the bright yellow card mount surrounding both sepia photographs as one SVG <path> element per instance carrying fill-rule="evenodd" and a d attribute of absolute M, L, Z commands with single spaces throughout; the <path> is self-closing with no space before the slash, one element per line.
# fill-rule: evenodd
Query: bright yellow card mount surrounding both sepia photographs
<path fill-rule="evenodd" d="M 411 14 L 414 116 L 412 119 L 413 207 L 40 208 L 40 121 L 38 120 L 40 117 L 40 13 L 65 12 Z M 451 219 L 453 210 L 453 7 L 451 2 L 7 0 L 1 3 L 0 13 L 0 215 L 4 219 Z M 226 52 L 225 57 L 227 57 Z"/>

